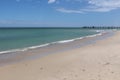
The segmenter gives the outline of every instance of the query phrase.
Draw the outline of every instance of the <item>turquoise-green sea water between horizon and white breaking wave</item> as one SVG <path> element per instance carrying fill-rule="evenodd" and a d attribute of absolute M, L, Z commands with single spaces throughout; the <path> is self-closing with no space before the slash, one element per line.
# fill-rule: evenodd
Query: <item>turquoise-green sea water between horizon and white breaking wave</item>
<path fill-rule="evenodd" d="M 0 51 L 26 48 L 96 34 L 87 29 L 0 29 Z"/>

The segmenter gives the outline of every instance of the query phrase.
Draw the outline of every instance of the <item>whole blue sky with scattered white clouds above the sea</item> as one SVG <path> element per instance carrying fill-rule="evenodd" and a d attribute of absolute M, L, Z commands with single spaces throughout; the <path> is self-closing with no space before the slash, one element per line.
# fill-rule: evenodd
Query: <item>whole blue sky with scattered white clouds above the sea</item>
<path fill-rule="evenodd" d="M 0 27 L 120 26 L 120 0 L 0 0 Z"/>

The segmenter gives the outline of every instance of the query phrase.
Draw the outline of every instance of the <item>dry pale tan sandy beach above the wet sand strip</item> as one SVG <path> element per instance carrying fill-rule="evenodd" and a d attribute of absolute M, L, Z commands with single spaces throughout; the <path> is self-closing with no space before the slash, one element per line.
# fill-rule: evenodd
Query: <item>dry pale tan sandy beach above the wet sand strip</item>
<path fill-rule="evenodd" d="M 120 31 L 88 46 L 1 66 L 0 80 L 120 80 Z"/>

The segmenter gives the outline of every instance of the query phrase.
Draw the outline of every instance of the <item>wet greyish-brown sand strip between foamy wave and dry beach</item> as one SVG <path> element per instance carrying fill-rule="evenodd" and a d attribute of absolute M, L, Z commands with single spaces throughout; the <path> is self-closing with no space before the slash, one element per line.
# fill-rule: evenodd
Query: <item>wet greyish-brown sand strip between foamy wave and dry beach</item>
<path fill-rule="evenodd" d="M 46 45 L 43 47 L 22 50 L 22 51 L 20 50 L 20 51 L 15 51 L 10 53 L 3 53 L 3 54 L 0 54 L 0 66 L 15 64 L 21 61 L 34 60 L 47 55 L 69 51 L 76 48 L 81 48 L 83 46 L 94 44 L 95 42 L 101 39 L 105 39 L 113 35 L 114 35 L 114 31 L 112 32 L 103 31 L 98 34 L 75 38 L 74 40 L 71 39 L 72 41 L 68 41 L 68 42 L 57 41 L 57 42 L 54 42 L 54 44 Z"/>

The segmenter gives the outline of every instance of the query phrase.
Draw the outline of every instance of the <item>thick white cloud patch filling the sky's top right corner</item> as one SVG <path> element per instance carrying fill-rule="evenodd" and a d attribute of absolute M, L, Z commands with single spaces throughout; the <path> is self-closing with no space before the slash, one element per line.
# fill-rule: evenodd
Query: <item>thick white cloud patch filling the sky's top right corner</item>
<path fill-rule="evenodd" d="M 108 12 L 120 8 L 120 0 L 89 0 L 85 11 Z"/>

